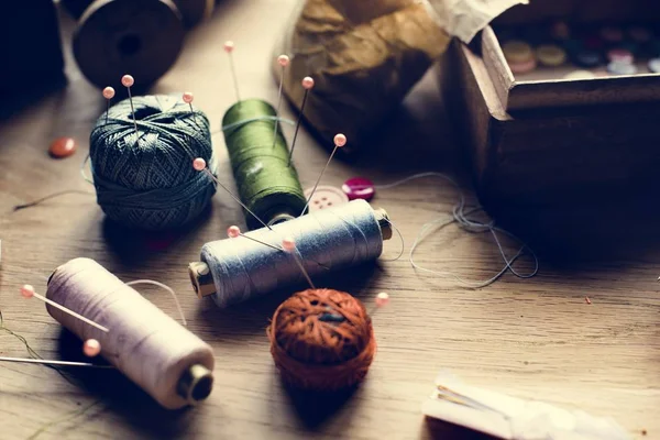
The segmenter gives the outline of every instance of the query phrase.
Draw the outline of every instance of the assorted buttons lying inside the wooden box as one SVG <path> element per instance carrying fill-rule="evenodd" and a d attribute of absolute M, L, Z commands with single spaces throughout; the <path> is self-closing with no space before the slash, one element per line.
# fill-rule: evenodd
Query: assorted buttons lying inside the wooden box
<path fill-rule="evenodd" d="M 610 75 L 660 73 L 660 36 L 645 25 L 573 25 L 565 21 L 528 26 L 495 28 L 504 56 L 514 74 L 568 63 L 580 70 L 566 79 L 594 78 L 590 69 L 606 67 Z M 646 59 L 646 63 L 642 61 Z M 646 64 L 646 66 L 645 66 Z"/>

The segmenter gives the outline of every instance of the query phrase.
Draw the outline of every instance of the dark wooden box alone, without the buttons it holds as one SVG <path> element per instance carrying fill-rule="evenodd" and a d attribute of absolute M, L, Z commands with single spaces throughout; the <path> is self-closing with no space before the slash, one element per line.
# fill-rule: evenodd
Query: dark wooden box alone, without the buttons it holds
<path fill-rule="evenodd" d="M 494 25 L 552 19 L 658 24 L 660 1 L 534 0 Z M 658 189 L 660 75 L 520 80 L 490 26 L 470 45 L 454 41 L 442 66 L 449 113 L 469 145 L 485 206 L 550 206 Z"/>

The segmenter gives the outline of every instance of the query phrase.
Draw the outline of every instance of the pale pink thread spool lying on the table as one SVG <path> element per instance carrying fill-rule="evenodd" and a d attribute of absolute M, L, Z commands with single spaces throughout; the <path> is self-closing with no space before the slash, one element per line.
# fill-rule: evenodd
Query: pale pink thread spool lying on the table
<path fill-rule="evenodd" d="M 101 355 L 163 407 L 194 405 L 211 393 L 211 348 L 94 260 L 57 267 L 46 298 L 106 326 L 107 333 L 46 306 L 78 338 L 99 341 Z"/>

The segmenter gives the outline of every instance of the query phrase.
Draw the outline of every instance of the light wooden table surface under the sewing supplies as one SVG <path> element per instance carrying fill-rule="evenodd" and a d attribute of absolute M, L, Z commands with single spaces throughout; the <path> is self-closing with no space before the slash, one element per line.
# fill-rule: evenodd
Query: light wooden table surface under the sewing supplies
<path fill-rule="evenodd" d="M 277 88 L 268 66 L 274 38 L 294 0 L 227 0 L 212 20 L 188 37 L 177 65 L 155 92 L 190 89 L 215 127 L 234 101 L 221 44 L 237 43 L 234 59 L 242 95 L 275 102 Z M 280 384 L 265 336 L 268 317 L 285 295 L 219 310 L 190 288 L 187 263 L 200 246 L 244 224 L 229 195 L 219 193 L 212 213 L 166 249 L 154 238 L 127 233 L 107 222 L 92 195 L 68 195 L 13 212 L 12 207 L 54 190 L 94 193 L 78 174 L 90 127 L 105 108 L 100 92 L 81 77 L 70 57 L 72 23 L 65 19 L 68 87 L 0 122 L 0 309 L 8 329 L 23 336 L 44 358 L 78 356 L 79 342 L 63 336 L 43 304 L 18 294 L 25 283 L 45 289 L 44 276 L 77 256 L 92 257 L 124 280 L 157 279 L 172 286 L 189 329 L 215 349 L 216 386 L 196 408 L 168 413 L 114 372 L 73 372 L 66 381 L 37 365 L 0 364 L 0 437 L 30 438 L 474 438 L 444 425 L 430 426 L 420 405 L 439 370 L 470 383 L 514 396 L 539 398 L 569 408 L 613 416 L 634 438 L 660 439 L 660 298 L 656 278 L 660 253 L 646 250 L 623 256 L 551 264 L 528 280 L 510 274 L 486 288 L 460 287 L 451 277 L 416 272 L 407 261 L 382 262 L 366 271 L 346 271 L 332 287 L 367 304 L 388 292 L 392 305 L 374 324 L 378 352 L 367 381 L 353 395 L 318 400 L 294 395 Z M 290 109 L 285 110 L 293 118 Z M 333 162 L 323 184 L 339 186 L 351 176 L 387 183 L 421 170 L 455 176 L 466 188 L 466 161 L 429 74 L 406 99 L 395 123 L 383 129 L 372 153 L 354 163 Z M 78 140 L 79 151 L 64 161 L 48 157 L 50 142 Z M 289 138 L 290 139 L 290 138 Z M 220 178 L 233 185 L 222 136 Z M 328 151 L 302 132 L 296 161 L 305 187 L 311 186 Z M 469 198 L 474 196 L 466 189 Z M 425 178 L 382 190 L 373 205 L 388 210 L 406 239 L 406 250 L 429 220 L 448 216 L 457 198 L 447 182 Z M 622 224 L 625 230 L 629 226 Z M 573 240 L 575 246 L 588 246 Z M 607 243 L 605 241 L 605 243 Z M 386 243 L 384 257 L 399 242 Z M 601 243 L 603 248 L 603 243 Z M 658 248 L 656 246 L 656 250 Z M 515 252 L 512 243 L 507 250 Z M 469 279 L 487 278 L 501 262 L 488 234 L 469 234 L 451 226 L 432 234 L 418 262 Z M 529 262 L 521 263 L 527 268 Z M 141 290 L 175 316 L 168 295 Z M 592 304 L 585 302 L 585 296 Z M 0 331 L 0 355 L 26 356 L 23 343 Z M 40 431 L 41 430 L 41 431 Z"/>

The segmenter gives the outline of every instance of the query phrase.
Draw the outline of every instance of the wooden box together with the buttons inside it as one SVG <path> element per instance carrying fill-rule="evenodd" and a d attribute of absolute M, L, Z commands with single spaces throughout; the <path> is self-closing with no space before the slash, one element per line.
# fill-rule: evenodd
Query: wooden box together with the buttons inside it
<path fill-rule="evenodd" d="M 659 73 L 657 0 L 534 0 L 454 41 L 441 85 L 482 202 L 657 191 Z"/>

